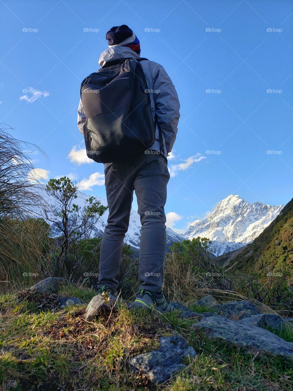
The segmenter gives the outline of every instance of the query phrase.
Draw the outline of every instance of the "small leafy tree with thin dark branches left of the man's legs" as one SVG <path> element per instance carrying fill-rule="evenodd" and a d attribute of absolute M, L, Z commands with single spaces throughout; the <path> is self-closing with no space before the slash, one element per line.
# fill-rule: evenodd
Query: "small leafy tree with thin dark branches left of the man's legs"
<path fill-rule="evenodd" d="M 66 278 L 74 267 L 68 257 L 70 244 L 90 237 L 96 222 L 108 208 L 95 197 L 86 199 L 83 206 L 75 204 L 77 190 L 77 183 L 65 176 L 60 179 L 50 179 L 46 185 L 46 191 L 54 197 L 55 204 L 52 205 L 51 210 L 44 210 L 45 217 L 62 232 L 60 250 L 57 254 L 57 269 L 63 266 Z"/>

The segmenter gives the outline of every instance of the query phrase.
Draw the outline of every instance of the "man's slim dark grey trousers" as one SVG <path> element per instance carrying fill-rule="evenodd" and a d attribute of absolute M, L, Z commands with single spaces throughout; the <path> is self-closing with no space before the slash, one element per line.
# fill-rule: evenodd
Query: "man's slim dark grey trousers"
<path fill-rule="evenodd" d="M 164 282 L 166 253 L 166 187 L 170 179 L 163 155 L 143 153 L 136 160 L 105 166 L 105 187 L 109 206 L 108 224 L 100 251 L 99 284 L 114 291 L 120 269 L 122 244 L 128 230 L 133 190 L 141 221 L 139 289 L 160 291 Z"/>

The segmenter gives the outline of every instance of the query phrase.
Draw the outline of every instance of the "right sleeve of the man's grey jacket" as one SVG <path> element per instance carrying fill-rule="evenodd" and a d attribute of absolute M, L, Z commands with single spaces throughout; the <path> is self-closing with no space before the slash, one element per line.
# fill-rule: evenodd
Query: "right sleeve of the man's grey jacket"
<path fill-rule="evenodd" d="M 154 63 L 152 75 L 157 122 L 165 138 L 167 153 L 170 153 L 177 135 L 180 103 L 175 87 L 163 66 Z"/>

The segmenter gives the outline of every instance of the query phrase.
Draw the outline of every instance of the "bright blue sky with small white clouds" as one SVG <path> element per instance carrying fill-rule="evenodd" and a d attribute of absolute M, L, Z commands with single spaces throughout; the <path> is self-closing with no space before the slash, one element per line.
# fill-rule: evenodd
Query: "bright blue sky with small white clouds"
<path fill-rule="evenodd" d="M 168 224 L 184 230 L 229 194 L 274 205 L 292 198 L 291 0 L 4 0 L 0 10 L 0 122 L 46 152 L 49 160 L 30 154 L 45 177 L 70 176 L 105 198 L 103 165 L 78 164 L 77 105 L 105 33 L 127 24 L 180 99 Z"/>

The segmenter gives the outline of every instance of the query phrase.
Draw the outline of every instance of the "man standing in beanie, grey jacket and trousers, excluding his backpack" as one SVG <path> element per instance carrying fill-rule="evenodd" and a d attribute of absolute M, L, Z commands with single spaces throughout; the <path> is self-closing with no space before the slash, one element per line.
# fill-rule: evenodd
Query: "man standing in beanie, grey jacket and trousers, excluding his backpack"
<path fill-rule="evenodd" d="M 109 48 L 100 56 L 99 65 L 114 60 L 140 57 L 140 43 L 127 26 L 112 27 L 106 34 Z M 139 249 L 139 293 L 135 303 L 168 312 L 172 307 L 162 292 L 166 253 L 166 187 L 170 179 L 167 156 L 177 134 L 179 100 L 175 87 L 163 66 L 148 60 L 140 61 L 150 90 L 153 118 L 157 116 L 155 142 L 134 160 L 104 163 L 105 187 L 109 217 L 101 243 L 98 292 L 107 291 L 115 296 L 120 269 L 123 239 L 129 226 L 133 191 L 138 200 L 141 221 Z M 80 100 L 77 124 L 82 126 L 86 115 Z M 163 135 L 160 148 L 159 128 Z"/>

